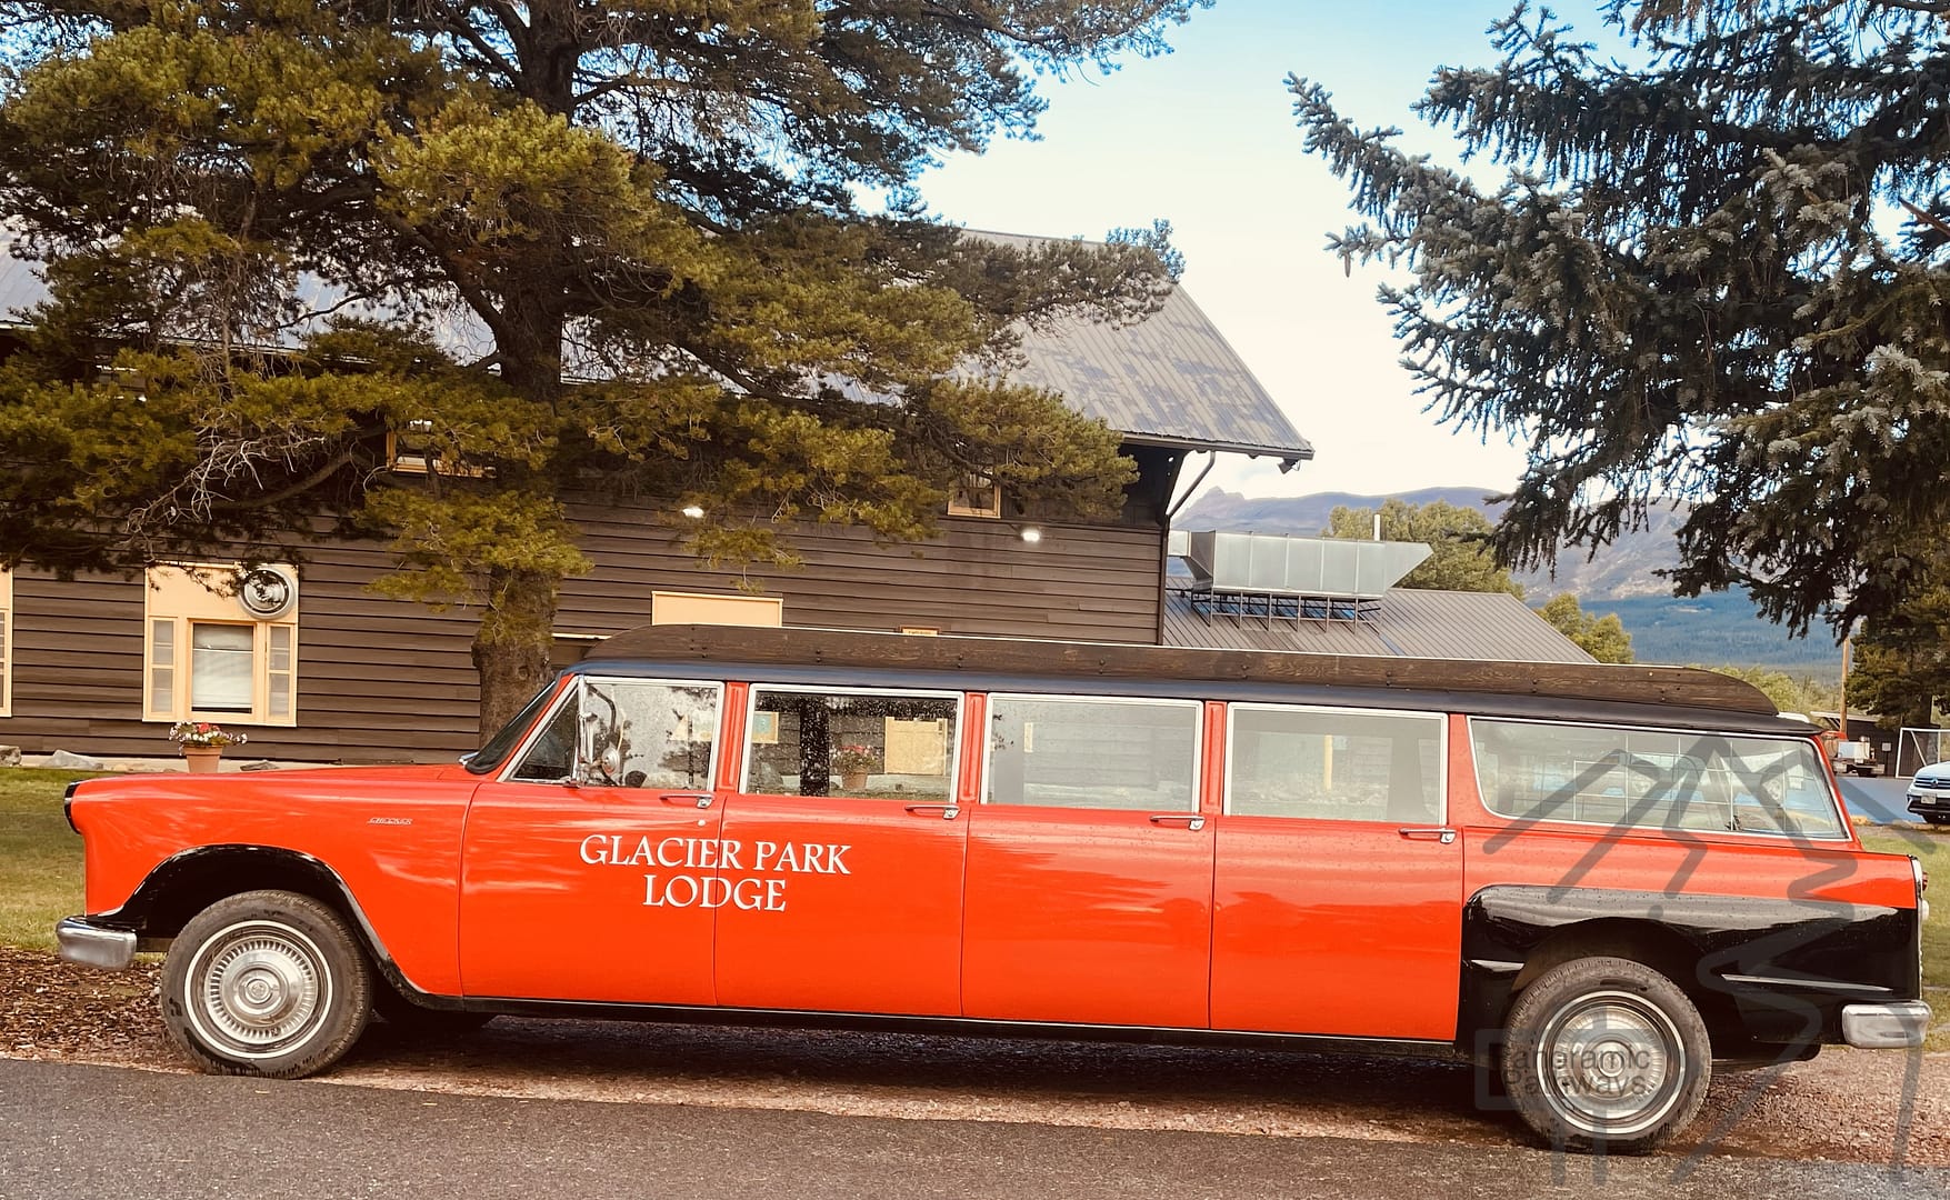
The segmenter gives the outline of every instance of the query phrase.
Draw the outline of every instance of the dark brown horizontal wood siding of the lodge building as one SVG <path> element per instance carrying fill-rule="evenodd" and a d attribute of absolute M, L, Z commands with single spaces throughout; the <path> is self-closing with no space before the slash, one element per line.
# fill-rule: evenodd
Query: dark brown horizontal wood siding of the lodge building
<path fill-rule="evenodd" d="M 651 591 L 735 591 L 700 570 L 681 533 L 642 507 L 579 505 L 597 568 L 569 580 L 556 628 L 606 636 L 649 620 Z M 856 529 L 798 539 L 803 570 L 762 572 L 788 624 L 1150 642 L 1158 624 L 1164 535 L 1156 529 L 1045 525 L 1030 546 L 1000 521 L 948 519 L 920 546 L 876 546 Z M 211 554 L 211 558 L 224 558 Z M 302 550 L 298 568 L 298 726 L 242 726 L 240 757 L 294 761 L 452 761 L 478 743 L 476 615 L 433 613 L 367 585 L 392 566 L 372 542 Z M 14 716 L 0 743 L 27 753 L 174 753 L 144 722 L 142 581 L 68 583 L 14 576 Z M 564 658 L 575 648 L 564 644 Z"/>

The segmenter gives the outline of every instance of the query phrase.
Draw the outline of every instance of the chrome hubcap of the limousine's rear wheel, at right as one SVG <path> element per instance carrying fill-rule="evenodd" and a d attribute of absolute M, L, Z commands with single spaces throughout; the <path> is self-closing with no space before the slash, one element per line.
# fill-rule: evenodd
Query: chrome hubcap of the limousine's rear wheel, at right
<path fill-rule="evenodd" d="M 1679 1100 L 1685 1073 L 1679 1028 L 1630 991 L 1578 997 L 1537 1042 L 1537 1075 L 1550 1106 L 1587 1134 L 1656 1126 Z"/>

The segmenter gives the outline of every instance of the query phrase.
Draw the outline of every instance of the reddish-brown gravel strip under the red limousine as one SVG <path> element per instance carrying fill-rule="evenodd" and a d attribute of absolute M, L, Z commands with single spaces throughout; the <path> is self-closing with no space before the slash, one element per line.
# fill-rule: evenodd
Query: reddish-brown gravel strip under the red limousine
<path fill-rule="evenodd" d="M 107 974 L 0 948 L 0 1056 L 183 1071 L 156 966 Z M 1275 1138 L 1507 1145 L 1457 1063 L 920 1034 L 497 1019 L 466 1036 L 374 1024 L 333 1083 L 448 1095 L 770 1108 Z M 1905 1100 L 1907 1097 L 1907 1100 Z M 1950 1167 L 1950 1054 L 1825 1050 L 1724 1071 L 1667 1153 Z"/>

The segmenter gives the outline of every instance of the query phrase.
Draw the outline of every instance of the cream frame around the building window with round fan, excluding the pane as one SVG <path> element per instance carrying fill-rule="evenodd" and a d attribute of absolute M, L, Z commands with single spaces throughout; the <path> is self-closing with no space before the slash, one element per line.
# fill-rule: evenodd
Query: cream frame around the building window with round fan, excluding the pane
<path fill-rule="evenodd" d="M 298 605 L 277 620 L 257 620 L 242 611 L 220 611 L 216 605 L 230 605 L 230 597 L 207 591 L 193 576 L 234 576 L 242 564 L 226 562 L 162 562 L 150 568 L 142 587 L 142 722 L 176 724 L 179 720 L 207 720 L 234 726 L 294 728 L 298 724 Z M 287 568 L 289 570 L 289 568 Z M 158 580 L 156 572 L 172 572 L 172 578 Z M 179 591 L 195 587 L 203 595 L 185 599 Z M 158 628 L 170 628 L 170 661 L 160 661 L 156 654 L 162 644 Z M 197 624 L 230 624 L 252 630 L 252 706 L 248 712 L 203 712 L 191 706 L 193 650 L 191 630 Z M 289 642 L 289 656 L 283 671 L 271 669 L 273 630 Z M 170 671 L 170 706 L 156 706 L 156 675 Z M 273 677 L 283 675 L 285 712 L 273 712 Z"/>

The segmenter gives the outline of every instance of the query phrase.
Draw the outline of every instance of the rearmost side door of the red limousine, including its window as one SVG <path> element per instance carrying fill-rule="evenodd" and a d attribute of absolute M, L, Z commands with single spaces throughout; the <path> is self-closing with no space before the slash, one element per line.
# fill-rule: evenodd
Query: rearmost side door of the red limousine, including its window
<path fill-rule="evenodd" d="M 1213 1028 L 1455 1034 L 1462 843 L 1431 712 L 1230 704 Z"/>

